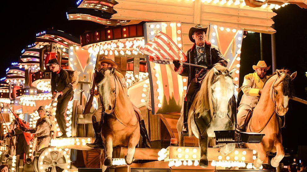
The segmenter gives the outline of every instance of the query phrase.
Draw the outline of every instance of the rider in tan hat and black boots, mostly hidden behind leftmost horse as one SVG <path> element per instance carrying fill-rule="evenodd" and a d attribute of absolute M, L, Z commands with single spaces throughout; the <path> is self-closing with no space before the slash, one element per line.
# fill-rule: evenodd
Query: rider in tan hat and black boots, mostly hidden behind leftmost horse
<path fill-rule="evenodd" d="M 100 60 L 100 65 L 101 69 L 103 68 L 117 68 L 117 64 L 107 56 L 103 56 Z M 118 71 L 115 71 L 116 75 L 119 77 L 120 82 L 122 83 L 122 86 L 124 87 L 124 90 L 127 92 L 128 88 L 126 85 L 126 80 L 125 77 Z M 94 96 L 99 97 L 98 91 L 97 90 L 92 90 L 90 91 L 90 94 L 94 94 Z M 141 111 L 139 108 L 137 108 L 133 103 L 132 103 L 133 109 L 137 114 L 137 118 L 139 121 L 140 125 L 140 133 L 142 135 L 142 143 L 145 145 L 145 147 L 150 148 L 151 144 L 148 138 L 147 130 L 145 128 L 145 122 L 142 117 Z M 87 143 L 87 146 L 94 148 L 94 149 L 104 149 L 104 143 L 101 138 L 101 128 L 103 124 L 103 114 L 102 114 L 102 106 L 98 108 L 98 110 L 95 112 L 95 114 L 92 116 L 92 123 L 93 123 L 93 128 L 95 132 L 95 141 L 94 143 Z"/>

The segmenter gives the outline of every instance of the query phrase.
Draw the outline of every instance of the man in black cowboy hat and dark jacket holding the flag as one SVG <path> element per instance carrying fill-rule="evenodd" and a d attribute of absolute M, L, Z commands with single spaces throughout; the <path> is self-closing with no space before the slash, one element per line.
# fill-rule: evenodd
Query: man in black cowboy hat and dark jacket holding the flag
<path fill-rule="evenodd" d="M 201 86 L 201 80 L 214 65 L 227 66 L 227 61 L 220 53 L 217 46 L 205 41 L 208 27 L 203 28 L 201 24 L 192 27 L 189 31 L 189 38 L 194 43 L 187 51 L 187 62 L 195 65 L 207 66 L 207 69 L 198 68 L 191 65 L 181 64 L 179 60 L 174 60 L 175 71 L 181 76 L 188 76 L 187 94 L 183 104 L 183 127 L 182 133 L 188 133 L 187 117 L 193 102 L 194 96 Z"/>

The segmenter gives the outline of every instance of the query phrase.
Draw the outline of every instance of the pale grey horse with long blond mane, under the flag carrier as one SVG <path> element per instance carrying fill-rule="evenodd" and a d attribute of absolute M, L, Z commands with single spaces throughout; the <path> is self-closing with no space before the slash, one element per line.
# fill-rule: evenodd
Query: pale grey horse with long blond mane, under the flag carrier
<path fill-rule="evenodd" d="M 196 94 L 188 116 L 189 136 L 192 132 L 198 138 L 199 148 L 201 150 L 201 159 L 199 166 L 206 168 L 208 166 L 207 149 L 208 137 L 215 137 L 215 130 L 234 130 L 236 111 L 234 94 L 234 84 L 232 73 L 221 65 L 216 65 L 206 74 L 200 90 Z M 231 99 L 232 98 L 232 99 Z M 234 101 L 234 102 L 233 102 Z M 231 102 L 229 104 L 229 102 Z M 183 117 L 177 122 L 179 134 L 179 144 L 184 145 L 184 138 L 181 136 Z M 221 147 L 222 154 L 229 154 L 235 149 L 235 144 L 228 144 Z"/>

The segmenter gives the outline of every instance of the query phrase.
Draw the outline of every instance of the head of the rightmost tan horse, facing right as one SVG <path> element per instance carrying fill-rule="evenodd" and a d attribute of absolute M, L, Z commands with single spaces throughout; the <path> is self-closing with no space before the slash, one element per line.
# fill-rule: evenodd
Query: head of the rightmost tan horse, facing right
<path fill-rule="evenodd" d="M 288 73 L 288 70 L 276 70 L 276 76 L 272 86 L 272 100 L 276 105 L 275 111 L 278 115 L 284 116 L 288 111 L 288 101 L 293 95 L 292 80 L 297 72 Z M 275 79 L 276 77 L 276 79 Z"/>

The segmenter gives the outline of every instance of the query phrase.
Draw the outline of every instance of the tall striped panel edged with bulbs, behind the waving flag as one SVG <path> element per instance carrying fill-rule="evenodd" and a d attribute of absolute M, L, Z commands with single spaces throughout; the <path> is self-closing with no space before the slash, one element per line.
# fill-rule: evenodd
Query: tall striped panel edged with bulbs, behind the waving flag
<path fill-rule="evenodd" d="M 164 44 L 169 44 L 168 46 L 165 44 L 165 51 L 167 50 L 167 53 L 174 54 L 174 51 L 170 50 L 172 48 L 175 49 L 176 52 L 176 55 L 171 56 L 163 54 L 165 57 L 148 55 L 148 68 L 151 69 L 150 76 L 152 76 L 152 86 L 150 87 L 153 91 L 151 93 L 152 113 L 163 114 L 180 112 L 185 90 L 187 89 L 187 78 L 178 75 L 178 73 L 174 71 L 174 65 L 172 64 L 173 60 L 171 58 L 176 57 L 179 60 L 186 61 L 182 53 L 183 42 L 181 22 L 151 22 L 146 23 L 145 26 L 145 43 L 153 42 L 154 37 L 159 38 L 157 36 L 158 34 L 160 38 L 167 38 L 167 40 L 169 40 L 163 42 Z M 158 44 L 155 42 L 152 44 L 158 47 Z M 152 47 L 145 46 L 144 49 L 145 48 L 149 48 L 150 50 Z M 166 53 L 161 52 L 161 50 L 159 50 L 159 52 Z"/>

